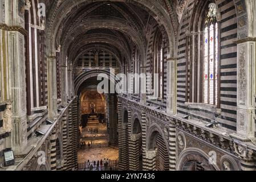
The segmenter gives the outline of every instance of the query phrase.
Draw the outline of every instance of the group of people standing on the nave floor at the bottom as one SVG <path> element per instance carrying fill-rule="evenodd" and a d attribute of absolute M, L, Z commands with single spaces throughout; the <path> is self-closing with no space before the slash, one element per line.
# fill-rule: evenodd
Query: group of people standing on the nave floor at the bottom
<path fill-rule="evenodd" d="M 104 168 L 103 168 L 104 167 Z M 97 162 L 94 161 L 94 162 L 90 162 L 90 160 L 88 160 L 86 162 L 86 168 L 85 169 L 90 169 L 90 171 L 94 171 L 94 169 L 96 171 L 103 171 L 103 169 L 108 169 L 109 167 L 109 170 L 112 171 L 112 167 L 110 166 L 110 160 L 109 159 L 104 159 L 104 160 L 98 160 Z"/>

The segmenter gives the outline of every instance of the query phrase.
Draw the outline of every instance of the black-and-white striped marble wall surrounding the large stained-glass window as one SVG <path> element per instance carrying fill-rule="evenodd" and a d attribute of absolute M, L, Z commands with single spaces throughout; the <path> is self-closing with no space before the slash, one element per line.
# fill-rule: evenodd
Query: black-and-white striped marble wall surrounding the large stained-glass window
<path fill-rule="evenodd" d="M 184 11 L 184 17 L 180 26 L 180 37 L 178 41 L 177 56 L 177 113 L 194 113 L 196 108 L 188 108 L 185 105 L 186 96 L 189 98 L 189 75 L 186 77 L 186 32 L 192 26 L 191 18 L 196 9 L 197 1 L 190 1 Z M 236 131 L 237 114 L 237 15 L 233 0 L 217 1 L 217 6 L 221 11 L 220 21 L 220 108 L 221 115 L 216 119 L 227 131 Z M 189 68 L 188 68 L 189 70 Z M 188 91 L 186 91 L 188 89 Z M 194 109 L 194 110 L 193 110 Z M 201 112 L 201 113 L 200 113 Z M 197 114 L 192 115 L 204 121 L 209 121 L 205 115 L 206 111 L 199 110 Z M 214 113 L 213 113 L 214 114 Z"/>

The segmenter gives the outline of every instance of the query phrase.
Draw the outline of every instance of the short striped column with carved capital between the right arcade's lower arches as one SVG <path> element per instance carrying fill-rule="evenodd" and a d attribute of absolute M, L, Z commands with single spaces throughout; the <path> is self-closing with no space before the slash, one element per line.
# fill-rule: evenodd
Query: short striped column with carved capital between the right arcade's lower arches
<path fill-rule="evenodd" d="M 145 159 L 143 161 L 143 171 L 156 171 L 157 150 L 145 150 Z"/>

